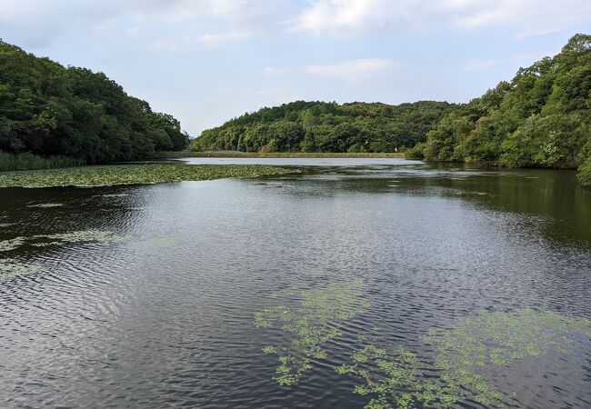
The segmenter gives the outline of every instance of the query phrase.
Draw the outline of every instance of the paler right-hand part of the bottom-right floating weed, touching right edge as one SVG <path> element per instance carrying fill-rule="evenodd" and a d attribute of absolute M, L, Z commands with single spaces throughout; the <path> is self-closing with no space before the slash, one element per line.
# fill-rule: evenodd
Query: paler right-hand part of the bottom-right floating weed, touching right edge
<path fill-rule="evenodd" d="M 436 365 L 447 382 L 462 385 L 480 404 L 503 406 L 505 395 L 487 383 L 483 368 L 550 352 L 568 354 L 576 334 L 591 336 L 591 320 L 519 309 L 481 313 L 449 329 L 432 329 L 423 341 L 435 346 Z"/>

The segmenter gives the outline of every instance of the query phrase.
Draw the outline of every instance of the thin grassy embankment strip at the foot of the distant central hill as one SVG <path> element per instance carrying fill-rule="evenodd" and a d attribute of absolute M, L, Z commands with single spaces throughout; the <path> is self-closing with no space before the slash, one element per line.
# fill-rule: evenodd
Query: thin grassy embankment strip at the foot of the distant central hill
<path fill-rule="evenodd" d="M 152 159 L 180 159 L 184 157 L 245 157 L 245 158 L 368 158 L 396 157 L 404 158 L 402 152 L 240 152 L 240 151 L 205 151 L 205 152 L 156 152 Z"/>

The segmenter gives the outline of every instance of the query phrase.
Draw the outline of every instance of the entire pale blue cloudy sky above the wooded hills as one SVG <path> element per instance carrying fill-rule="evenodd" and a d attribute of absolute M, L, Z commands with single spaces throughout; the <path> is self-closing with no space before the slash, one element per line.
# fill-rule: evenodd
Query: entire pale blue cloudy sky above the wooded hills
<path fill-rule="evenodd" d="M 190 135 L 296 99 L 466 102 L 591 33 L 589 0 L 0 0 L 0 38 Z"/>

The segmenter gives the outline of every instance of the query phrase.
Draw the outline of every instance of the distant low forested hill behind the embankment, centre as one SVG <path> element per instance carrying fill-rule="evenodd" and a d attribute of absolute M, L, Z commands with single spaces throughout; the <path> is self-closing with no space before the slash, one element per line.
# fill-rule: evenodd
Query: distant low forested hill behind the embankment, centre
<path fill-rule="evenodd" d="M 245 152 L 394 152 L 426 140 L 446 113 L 435 101 L 386 105 L 297 101 L 209 129 L 192 148 Z"/>

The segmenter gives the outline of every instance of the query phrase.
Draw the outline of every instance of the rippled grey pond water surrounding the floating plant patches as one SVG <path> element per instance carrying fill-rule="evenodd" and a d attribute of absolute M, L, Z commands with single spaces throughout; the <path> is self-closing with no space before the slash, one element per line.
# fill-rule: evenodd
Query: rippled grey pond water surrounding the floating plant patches
<path fill-rule="evenodd" d="M 354 394 L 359 380 L 335 367 L 361 334 L 379 328 L 380 343 L 404 346 L 436 378 L 430 329 L 524 309 L 591 319 L 591 190 L 574 172 L 186 161 L 301 172 L 0 189 L 0 406 L 357 408 L 374 396 Z M 256 326 L 255 314 L 297 305 L 277 291 L 322 298 L 343 283 L 361 285 L 363 308 L 329 323 L 338 333 L 325 354 L 278 384 L 277 356 L 262 350 L 293 334 Z M 569 348 L 481 370 L 508 406 L 591 407 L 589 335 Z"/>

